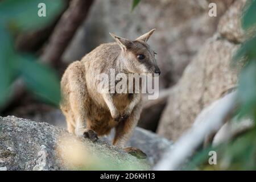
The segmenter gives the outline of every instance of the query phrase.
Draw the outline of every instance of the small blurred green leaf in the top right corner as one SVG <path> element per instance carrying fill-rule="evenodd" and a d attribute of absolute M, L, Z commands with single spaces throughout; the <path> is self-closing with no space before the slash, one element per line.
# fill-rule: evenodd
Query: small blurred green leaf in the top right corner
<path fill-rule="evenodd" d="M 242 27 L 247 30 L 250 27 L 256 26 L 256 1 L 252 0 L 249 8 L 246 10 L 242 18 Z"/>

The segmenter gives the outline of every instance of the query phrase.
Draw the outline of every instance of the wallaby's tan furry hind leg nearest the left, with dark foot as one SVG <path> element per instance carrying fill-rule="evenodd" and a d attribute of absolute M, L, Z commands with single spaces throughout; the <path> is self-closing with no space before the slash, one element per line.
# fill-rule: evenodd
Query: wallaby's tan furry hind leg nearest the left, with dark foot
<path fill-rule="evenodd" d="M 97 134 L 86 127 L 88 126 L 86 122 L 89 122 L 89 119 L 86 118 L 88 113 L 86 102 L 88 103 L 89 101 L 86 89 L 84 65 L 82 65 L 80 61 L 76 61 L 69 65 L 64 74 L 65 77 L 67 76 L 68 80 L 68 100 L 70 110 L 72 111 L 75 120 L 75 134 L 78 137 L 86 137 L 96 140 Z"/>

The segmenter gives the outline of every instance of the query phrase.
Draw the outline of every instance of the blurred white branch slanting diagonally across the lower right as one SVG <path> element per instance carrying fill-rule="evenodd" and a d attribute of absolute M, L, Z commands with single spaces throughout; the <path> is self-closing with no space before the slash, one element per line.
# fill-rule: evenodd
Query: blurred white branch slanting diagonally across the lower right
<path fill-rule="evenodd" d="M 172 146 L 163 158 L 156 164 L 154 170 L 177 170 L 181 164 L 193 154 L 204 138 L 217 131 L 224 124 L 225 119 L 233 112 L 237 105 L 237 92 L 230 93 L 225 97 L 213 102 L 209 107 L 210 113 L 199 115 L 195 123 L 177 142 Z M 204 117 L 203 117 L 204 116 Z M 203 119 L 203 122 L 198 122 Z"/>

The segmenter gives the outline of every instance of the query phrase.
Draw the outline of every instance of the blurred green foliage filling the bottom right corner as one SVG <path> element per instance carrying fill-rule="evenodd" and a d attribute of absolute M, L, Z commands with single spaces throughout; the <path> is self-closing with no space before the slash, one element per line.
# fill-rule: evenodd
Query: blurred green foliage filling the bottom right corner
<path fill-rule="evenodd" d="M 208 163 L 209 151 L 217 152 L 217 164 Z M 208 147 L 195 154 L 185 170 L 256 170 L 255 129 L 230 142 Z"/>

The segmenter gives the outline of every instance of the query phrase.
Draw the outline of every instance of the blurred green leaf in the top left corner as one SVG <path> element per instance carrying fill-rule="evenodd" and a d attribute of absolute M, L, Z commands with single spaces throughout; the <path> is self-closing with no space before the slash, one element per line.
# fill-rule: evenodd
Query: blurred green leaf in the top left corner
<path fill-rule="evenodd" d="M 46 17 L 38 16 L 39 3 L 46 4 Z M 0 22 L 12 31 L 42 28 L 64 8 L 62 0 L 6 0 L 0 2 Z"/>

